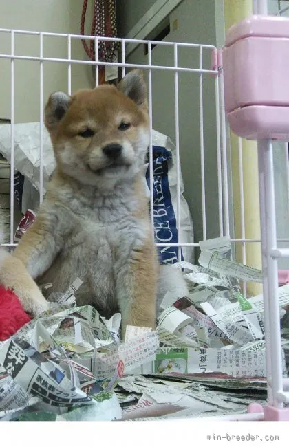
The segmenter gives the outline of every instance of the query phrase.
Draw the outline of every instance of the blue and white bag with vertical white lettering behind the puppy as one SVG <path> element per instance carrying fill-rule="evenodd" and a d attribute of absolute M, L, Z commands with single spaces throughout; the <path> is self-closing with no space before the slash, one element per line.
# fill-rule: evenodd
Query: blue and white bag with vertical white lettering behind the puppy
<path fill-rule="evenodd" d="M 153 227 L 156 243 L 193 243 L 193 221 L 184 199 L 184 184 L 180 171 L 180 230 L 177 226 L 177 162 L 170 138 L 153 131 Z M 149 199 L 149 158 L 144 166 Z M 160 262 L 178 262 L 178 247 L 159 247 Z M 182 247 L 180 261 L 193 262 L 193 247 Z"/>

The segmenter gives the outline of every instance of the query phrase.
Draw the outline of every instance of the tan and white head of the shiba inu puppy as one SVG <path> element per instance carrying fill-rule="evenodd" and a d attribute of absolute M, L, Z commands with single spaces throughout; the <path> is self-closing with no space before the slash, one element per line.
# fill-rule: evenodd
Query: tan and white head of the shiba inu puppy
<path fill-rule="evenodd" d="M 45 107 L 58 169 L 102 189 L 132 179 L 149 145 L 147 89 L 133 70 L 118 88 L 101 85 L 74 96 L 57 91 Z"/>

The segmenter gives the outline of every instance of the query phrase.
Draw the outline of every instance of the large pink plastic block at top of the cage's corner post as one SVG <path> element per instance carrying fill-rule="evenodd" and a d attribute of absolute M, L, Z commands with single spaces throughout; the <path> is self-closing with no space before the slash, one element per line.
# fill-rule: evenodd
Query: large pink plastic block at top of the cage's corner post
<path fill-rule="evenodd" d="M 289 140 L 289 18 L 252 16 L 234 25 L 223 50 L 231 129 L 250 140 Z"/>

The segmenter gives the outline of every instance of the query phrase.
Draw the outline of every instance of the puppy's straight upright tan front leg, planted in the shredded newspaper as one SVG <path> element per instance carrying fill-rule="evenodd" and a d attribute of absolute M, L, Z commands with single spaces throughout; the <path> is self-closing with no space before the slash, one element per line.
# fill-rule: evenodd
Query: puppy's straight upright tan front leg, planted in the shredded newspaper
<path fill-rule="evenodd" d="M 116 296 L 122 315 L 122 336 L 127 325 L 156 327 L 158 263 L 151 240 L 131 250 L 127 265 L 116 276 Z"/>

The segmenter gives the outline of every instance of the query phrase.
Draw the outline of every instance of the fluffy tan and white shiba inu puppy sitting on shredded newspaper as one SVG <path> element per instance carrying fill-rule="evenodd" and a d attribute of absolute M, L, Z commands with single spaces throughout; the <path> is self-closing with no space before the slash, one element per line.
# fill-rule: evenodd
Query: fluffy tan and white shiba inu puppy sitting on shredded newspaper
<path fill-rule="evenodd" d="M 160 268 L 151 234 L 142 177 L 149 146 L 142 73 L 130 72 L 118 88 L 52 94 L 45 126 L 56 171 L 12 256 L 37 284 L 52 283 L 50 293 L 81 278 L 78 305 L 94 305 L 106 317 L 120 311 L 122 330 L 155 327 L 158 290 L 163 295 L 167 284 L 171 290 L 183 280 L 178 270 Z M 28 310 L 47 307 L 39 290 L 31 290 L 30 303 L 15 290 Z"/>

